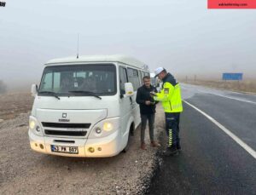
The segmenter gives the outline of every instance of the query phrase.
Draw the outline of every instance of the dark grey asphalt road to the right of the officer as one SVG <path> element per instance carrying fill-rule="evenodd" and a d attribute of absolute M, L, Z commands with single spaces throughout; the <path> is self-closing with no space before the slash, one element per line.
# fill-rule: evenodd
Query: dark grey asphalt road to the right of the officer
<path fill-rule="evenodd" d="M 256 95 L 189 84 L 182 85 L 182 93 L 235 138 L 183 103 L 183 151 L 176 157 L 159 155 L 147 194 L 256 194 Z"/>

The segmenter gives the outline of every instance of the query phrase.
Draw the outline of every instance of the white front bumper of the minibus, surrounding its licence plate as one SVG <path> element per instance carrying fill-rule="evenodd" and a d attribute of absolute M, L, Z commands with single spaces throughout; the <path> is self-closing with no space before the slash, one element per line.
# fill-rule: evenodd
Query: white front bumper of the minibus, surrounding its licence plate
<path fill-rule="evenodd" d="M 66 157 L 86 157 L 86 158 L 102 158 L 112 157 L 121 152 L 119 141 L 119 130 L 113 132 L 113 134 L 102 138 L 96 139 L 71 139 L 71 138 L 56 138 L 49 136 L 34 135 L 31 130 L 28 130 L 30 146 L 32 150 L 36 152 L 42 152 L 52 155 L 66 156 Z M 74 141 L 74 143 L 59 142 Z M 58 142 L 56 142 L 58 141 Z M 78 146 L 79 153 L 62 153 L 52 152 L 50 145 L 55 146 Z M 94 152 L 90 152 L 93 148 Z"/>

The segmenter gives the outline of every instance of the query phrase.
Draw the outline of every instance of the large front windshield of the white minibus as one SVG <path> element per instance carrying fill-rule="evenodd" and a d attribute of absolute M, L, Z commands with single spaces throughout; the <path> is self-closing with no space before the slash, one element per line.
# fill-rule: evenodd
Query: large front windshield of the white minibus
<path fill-rule="evenodd" d="M 115 95 L 116 90 L 113 64 L 47 66 L 38 95 L 49 96 L 53 92 L 58 96 L 102 96 Z"/>

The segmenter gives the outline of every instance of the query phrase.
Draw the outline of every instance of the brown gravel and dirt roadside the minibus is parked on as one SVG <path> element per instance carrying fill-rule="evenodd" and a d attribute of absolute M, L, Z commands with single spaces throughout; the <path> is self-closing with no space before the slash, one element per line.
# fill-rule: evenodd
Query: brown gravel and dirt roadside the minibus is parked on
<path fill-rule="evenodd" d="M 8 96 L 8 95 L 7 95 Z M 32 152 L 27 123 L 32 100 L 29 95 L 0 96 L 1 117 L 14 105 L 12 119 L 0 123 L 0 194 L 143 194 L 153 174 L 157 149 L 139 148 L 140 129 L 128 152 L 113 158 L 64 158 Z M 3 109 L 4 108 L 4 109 Z M 3 109 L 3 110 L 2 110 Z M 23 113 L 22 113 L 23 112 Z M 163 130 L 159 105 L 155 137 Z M 15 118 L 14 118 L 15 117 Z"/>

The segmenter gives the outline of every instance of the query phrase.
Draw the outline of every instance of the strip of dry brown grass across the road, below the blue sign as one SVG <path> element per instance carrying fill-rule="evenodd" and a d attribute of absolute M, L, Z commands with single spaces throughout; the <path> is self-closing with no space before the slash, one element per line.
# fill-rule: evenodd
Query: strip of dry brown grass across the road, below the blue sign
<path fill-rule="evenodd" d="M 191 83 L 196 85 L 203 85 L 217 89 L 228 89 L 240 92 L 256 93 L 256 80 L 244 81 L 222 81 L 222 80 L 181 80 L 182 83 Z"/>

